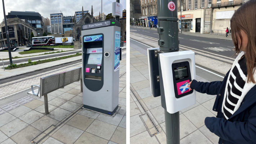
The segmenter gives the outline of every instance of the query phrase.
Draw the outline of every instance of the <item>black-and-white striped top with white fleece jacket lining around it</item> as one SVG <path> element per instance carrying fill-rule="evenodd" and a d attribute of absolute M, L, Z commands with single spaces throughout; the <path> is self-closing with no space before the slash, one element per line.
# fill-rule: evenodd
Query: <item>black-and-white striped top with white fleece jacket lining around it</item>
<path fill-rule="evenodd" d="M 225 120 L 228 120 L 237 111 L 244 96 L 255 86 L 252 82 L 247 83 L 246 59 L 244 57 L 241 59 L 243 55 L 244 52 L 238 55 L 229 72 L 222 103 L 222 113 Z M 255 78 L 255 73 L 253 77 Z"/>

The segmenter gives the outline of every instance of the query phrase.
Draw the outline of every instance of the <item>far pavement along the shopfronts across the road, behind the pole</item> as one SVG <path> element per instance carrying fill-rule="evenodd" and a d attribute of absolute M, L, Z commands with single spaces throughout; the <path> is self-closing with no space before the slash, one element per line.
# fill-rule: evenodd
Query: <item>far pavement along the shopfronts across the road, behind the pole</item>
<path fill-rule="evenodd" d="M 132 27 L 130 26 L 130 28 L 136 28 L 136 27 Z M 139 29 L 144 29 L 144 30 L 152 30 L 152 31 L 157 31 L 156 28 L 149 28 L 149 27 L 138 27 Z M 224 35 L 215 35 L 215 34 L 209 34 L 209 33 L 200 33 L 200 32 L 184 32 L 182 31 L 182 33 L 179 31 L 179 34 L 182 35 L 190 35 L 190 36 L 200 36 L 200 37 L 207 37 L 207 38 L 213 38 L 213 39 L 221 39 L 221 40 L 229 40 L 232 41 L 232 37 L 231 35 L 229 35 L 229 37 L 226 37 Z"/>

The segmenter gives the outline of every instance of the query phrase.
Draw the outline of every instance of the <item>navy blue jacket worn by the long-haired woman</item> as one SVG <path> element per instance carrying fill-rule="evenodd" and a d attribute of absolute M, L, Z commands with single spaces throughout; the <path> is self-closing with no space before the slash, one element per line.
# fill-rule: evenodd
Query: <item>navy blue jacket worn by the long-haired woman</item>
<path fill-rule="evenodd" d="M 256 86 L 252 87 L 244 97 L 240 107 L 228 119 L 222 118 L 222 102 L 224 99 L 226 81 L 191 82 L 191 89 L 199 93 L 217 95 L 212 110 L 218 112 L 216 117 L 207 117 L 206 127 L 219 136 L 219 144 L 256 144 Z"/>

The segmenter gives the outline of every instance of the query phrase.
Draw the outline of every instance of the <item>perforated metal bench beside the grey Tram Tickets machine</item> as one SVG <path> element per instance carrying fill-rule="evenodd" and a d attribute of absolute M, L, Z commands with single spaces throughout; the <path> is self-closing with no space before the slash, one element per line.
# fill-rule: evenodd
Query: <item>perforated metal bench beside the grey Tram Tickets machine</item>
<path fill-rule="evenodd" d="M 82 67 L 70 69 L 64 72 L 56 73 L 54 75 L 41 77 L 40 85 L 32 85 L 29 94 L 33 98 L 41 99 L 44 96 L 44 108 L 45 114 L 49 113 L 48 110 L 48 97 L 47 94 L 64 88 L 64 86 L 72 84 L 80 80 L 81 91 L 83 92 L 83 80 L 82 80 Z M 38 89 L 34 90 L 34 86 L 37 86 Z"/>

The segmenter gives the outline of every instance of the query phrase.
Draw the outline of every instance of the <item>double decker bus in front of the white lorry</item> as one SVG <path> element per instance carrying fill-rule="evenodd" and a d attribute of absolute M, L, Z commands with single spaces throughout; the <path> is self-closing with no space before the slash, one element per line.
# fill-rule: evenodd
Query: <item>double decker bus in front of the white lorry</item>
<path fill-rule="evenodd" d="M 32 46 L 55 44 L 54 36 L 32 37 Z"/>

